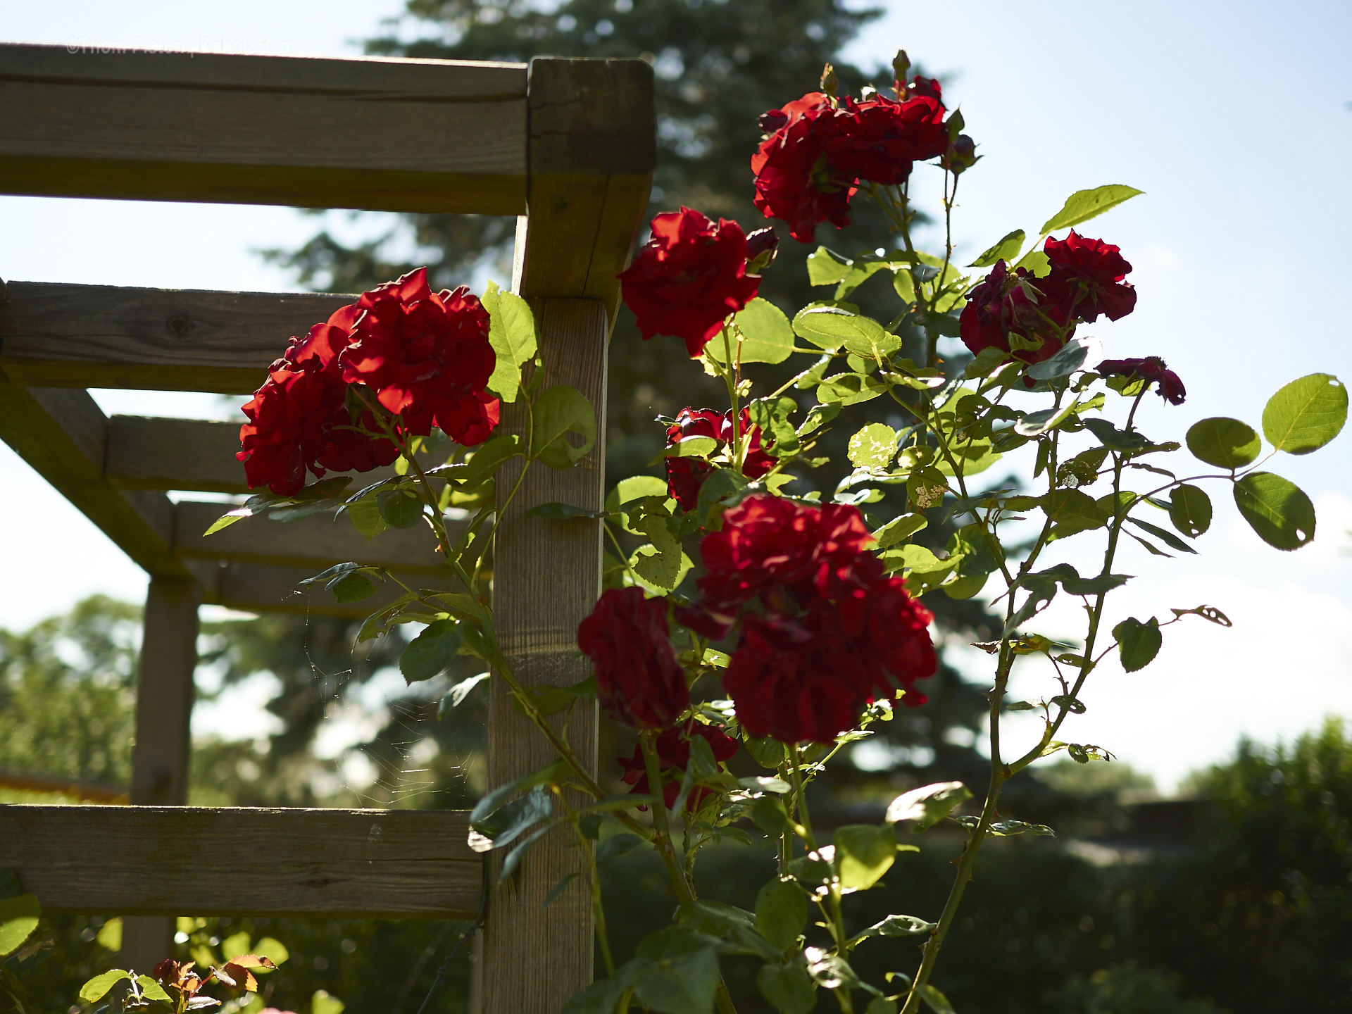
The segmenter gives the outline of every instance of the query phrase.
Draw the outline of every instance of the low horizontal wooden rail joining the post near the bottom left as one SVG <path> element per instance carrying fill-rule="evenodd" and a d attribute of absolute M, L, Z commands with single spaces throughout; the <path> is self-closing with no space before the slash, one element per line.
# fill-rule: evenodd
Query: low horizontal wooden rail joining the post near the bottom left
<path fill-rule="evenodd" d="M 466 919 L 466 831 L 449 810 L 0 806 L 0 868 L 50 915 Z"/>

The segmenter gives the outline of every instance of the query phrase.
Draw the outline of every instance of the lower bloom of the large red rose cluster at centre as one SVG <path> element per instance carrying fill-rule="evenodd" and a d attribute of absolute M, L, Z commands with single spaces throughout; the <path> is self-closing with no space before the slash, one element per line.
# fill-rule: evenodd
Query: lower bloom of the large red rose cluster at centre
<path fill-rule="evenodd" d="M 854 625 L 825 599 L 798 617 L 746 615 L 723 688 L 749 734 L 830 742 L 896 685 L 911 707 L 925 703 L 914 684 L 938 667 L 932 614 L 899 577 L 883 579 L 863 606 Z"/>

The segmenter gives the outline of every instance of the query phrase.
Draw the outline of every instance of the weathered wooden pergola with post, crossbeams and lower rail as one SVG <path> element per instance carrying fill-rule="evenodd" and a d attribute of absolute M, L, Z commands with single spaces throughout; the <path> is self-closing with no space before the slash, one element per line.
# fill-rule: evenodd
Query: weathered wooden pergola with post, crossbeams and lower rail
<path fill-rule="evenodd" d="M 535 685 L 585 676 L 575 631 L 599 594 L 602 533 L 595 521 L 525 511 L 602 507 L 615 274 L 648 203 L 654 137 L 652 70 L 639 59 L 0 45 L 0 193 L 518 216 L 512 288 L 541 322 L 550 383 L 591 399 L 599 434 L 577 468 L 531 470 L 493 550 L 499 637 Z M 296 581 L 361 560 L 450 587 L 431 534 L 391 530 L 368 544 L 312 516 L 204 538 L 222 506 L 166 493 L 243 492 L 238 426 L 108 418 L 87 392 L 249 393 L 287 337 L 353 297 L 24 281 L 0 295 L 0 437 L 150 577 L 132 806 L 0 807 L 0 868 L 16 868 L 45 913 L 127 917 L 122 959 L 143 971 L 170 953 L 180 914 L 473 918 L 483 867 L 464 813 L 184 806 L 199 603 L 360 615 L 379 600 L 296 599 Z M 522 416 L 519 403 L 504 406 L 503 426 L 519 430 Z M 487 738 L 489 784 L 552 760 L 496 680 Z M 595 768 L 595 708 L 572 717 L 569 738 Z M 473 1010 L 557 1011 L 591 982 L 585 879 L 541 910 L 576 865 L 553 834 L 491 891 Z"/>

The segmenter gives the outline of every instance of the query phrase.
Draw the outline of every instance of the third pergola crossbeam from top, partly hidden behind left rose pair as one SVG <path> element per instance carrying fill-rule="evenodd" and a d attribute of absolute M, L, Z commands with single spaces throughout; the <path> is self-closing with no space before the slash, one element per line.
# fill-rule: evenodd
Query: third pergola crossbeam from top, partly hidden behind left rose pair
<path fill-rule="evenodd" d="M 243 422 L 243 415 L 239 416 Z M 187 489 L 208 493 L 247 493 L 245 466 L 235 460 L 239 450 L 239 422 L 210 419 L 165 419 L 145 415 L 108 416 L 108 449 L 104 476 L 119 489 Z M 445 454 L 423 454 L 419 461 L 439 465 Z M 346 475 L 347 488 L 392 479 L 393 466 L 370 472 L 330 472 Z M 311 476 L 308 481 L 314 481 Z"/>

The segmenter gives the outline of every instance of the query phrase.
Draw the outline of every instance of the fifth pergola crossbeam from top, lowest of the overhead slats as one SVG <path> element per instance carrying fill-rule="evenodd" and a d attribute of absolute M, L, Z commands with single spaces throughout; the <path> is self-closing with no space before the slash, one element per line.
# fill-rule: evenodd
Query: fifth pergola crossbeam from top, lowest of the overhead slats
<path fill-rule="evenodd" d="M 361 558 L 360 556 L 357 558 Z M 361 602 L 338 602 L 323 585 L 301 587 L 318 573 L 316 565 L 276 566 L 266 564 L 195 560 L 193 573 L 201 583 L 201 600 L 242 612 L 296 612 L 316 617 L 362 619 L 404 594 L 393 581 L 376 585 L 376 594 Z M 418 591 L 464 591 L 450 572 L 419 573 L 406 583 Z"/>

